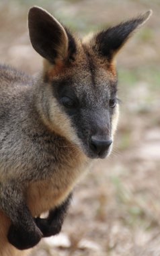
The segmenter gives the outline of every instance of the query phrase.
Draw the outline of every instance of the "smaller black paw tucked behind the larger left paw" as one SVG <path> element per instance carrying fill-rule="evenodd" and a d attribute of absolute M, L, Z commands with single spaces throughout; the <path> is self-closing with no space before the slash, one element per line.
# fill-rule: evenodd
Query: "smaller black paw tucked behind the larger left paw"
<path fill-rule="evenodd" d="M 36 222 L 36 226 L 38 226 L 40 231 L 43 233 L 44 237 L 54 236 L 55 234 L 58 234 L 62 228 L 62 224 L 54 222 L 50 223 L 47 218 L 35 218 L 34 221 Z"/>

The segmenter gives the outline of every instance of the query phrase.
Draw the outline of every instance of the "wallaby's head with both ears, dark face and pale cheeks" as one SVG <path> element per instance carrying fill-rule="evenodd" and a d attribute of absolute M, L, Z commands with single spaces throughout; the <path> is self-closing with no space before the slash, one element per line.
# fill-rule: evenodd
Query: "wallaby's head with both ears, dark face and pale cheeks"
<path fill-rule="evenodd" d="M 118 121 L 115 56 L 150 15 L 147 11 L 81 40 L 44 9 L 29 11 L 30 40 L 44 58 L 42 118 L 89 158 L 111 151 Z"/>

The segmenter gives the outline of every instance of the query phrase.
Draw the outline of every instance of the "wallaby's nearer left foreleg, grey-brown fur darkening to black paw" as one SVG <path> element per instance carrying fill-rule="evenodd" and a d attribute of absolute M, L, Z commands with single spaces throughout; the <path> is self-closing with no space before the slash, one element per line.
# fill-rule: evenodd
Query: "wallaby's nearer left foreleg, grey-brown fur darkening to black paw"
<path fill-rule="evenodd" d="M 12 222 L 7 235 L 11 245 L 22 250 L 40 241 L 42 232 L 26 205 L 22 187 L 13 182 L 0 183 L 0 208 Z"/>

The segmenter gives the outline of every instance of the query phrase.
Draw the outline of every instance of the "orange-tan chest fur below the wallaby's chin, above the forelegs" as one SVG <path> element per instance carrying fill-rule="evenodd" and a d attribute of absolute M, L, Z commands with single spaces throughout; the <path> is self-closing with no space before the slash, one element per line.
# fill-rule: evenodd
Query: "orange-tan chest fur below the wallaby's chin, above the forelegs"
<path fill-rule="evenodd" d="M 50 179 L 30 183 L 26 189 L 26 201 L 32 216 L 38 216 L 60 205 L 71 193 L 87 167 L 86 161 L 77 160 L 76 168 L 63 166 L 59 170 L 54 170 Z"/>

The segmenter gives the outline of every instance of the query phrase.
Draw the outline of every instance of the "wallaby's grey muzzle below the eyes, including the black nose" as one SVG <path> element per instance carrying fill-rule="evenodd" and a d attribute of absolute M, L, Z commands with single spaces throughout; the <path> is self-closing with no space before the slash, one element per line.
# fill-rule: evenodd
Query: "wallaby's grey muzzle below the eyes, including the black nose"
<path fill-rule="evenodd" d="M 83 151 L 89 158 L 105 158 L 110 153 L 112 125 L 108 110 L 83 110 L 76 126 Z"/>

